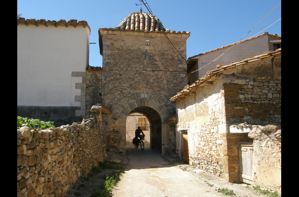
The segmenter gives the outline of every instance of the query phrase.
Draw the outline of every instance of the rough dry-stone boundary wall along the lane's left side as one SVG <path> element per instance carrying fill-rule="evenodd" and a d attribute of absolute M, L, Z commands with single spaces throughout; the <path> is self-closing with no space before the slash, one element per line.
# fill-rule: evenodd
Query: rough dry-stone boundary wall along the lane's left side
<path fill-rule="evenodd" d="M 65 196 L 106 157 L 100 106 L 81 124 L 17 130 L 17 196 Z"/>

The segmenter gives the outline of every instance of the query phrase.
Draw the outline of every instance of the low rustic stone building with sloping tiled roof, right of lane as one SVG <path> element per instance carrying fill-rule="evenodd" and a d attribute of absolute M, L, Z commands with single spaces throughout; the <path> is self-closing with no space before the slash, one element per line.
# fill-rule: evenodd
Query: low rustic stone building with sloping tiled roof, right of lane
<path fill-rule="evenodd" d="M 281 48 L 218 65 L 170 100 L 176 103 L 176 154 L 182 160 L 230 182 L 273 186 L 270 177 L 278 176 L 271 189 L 281 191 L 281 131 L 277 132 L 281 128 Z M 263 125 L 269 124 L 276 130 L 263 132 Z M 257 134 L 248 137 L 254 132 Z M 269 133 L 275 134 L 269 139 L 275 138 L 276 148 L 265 137 Z M 257 135 L 265 137 L 260 151 Z M 252 152 L 251 161 L 242 161 L 243 150 Z M 259 165 L 262 160 L 268 163 Z M 245 168 L 250 175 L 242 175 Z"/>

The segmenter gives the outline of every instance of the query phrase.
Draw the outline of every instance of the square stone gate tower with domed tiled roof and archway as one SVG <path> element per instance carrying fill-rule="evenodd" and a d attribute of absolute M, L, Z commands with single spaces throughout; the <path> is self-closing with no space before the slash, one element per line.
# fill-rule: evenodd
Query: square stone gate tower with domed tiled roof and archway
<path fill-rule="evenodd" d="M 118 132 L 120 149 L 125 149 L 129 113 L 142 106 L 155 110 L 161 118 L 160 148 L 167 153 L 172 147 L 164 120 L 176 116 L 169 99 L 187 85 L 184 59 L 190 33 L 170 31 L 155 16 L 140 11 L 129 14 L 116 28 L 99 28 L 102 105 L 112 110 L 112 123 L 107 128 Z M 184 59 L 174 52 L 164 34 Z M 147 49 L 146 41 L 150 41 Z"/>

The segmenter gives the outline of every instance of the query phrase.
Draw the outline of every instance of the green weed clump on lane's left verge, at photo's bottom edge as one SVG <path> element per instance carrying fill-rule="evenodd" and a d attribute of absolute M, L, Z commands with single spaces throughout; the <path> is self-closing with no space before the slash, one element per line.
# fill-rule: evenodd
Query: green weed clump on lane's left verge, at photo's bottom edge
<path fill-rule="evenodd" d="M 113 186 L 116 185 L 118 181 L 118 175 L 114 174 L 112 176 L 107 176 L 105 183 L 100 186 L 100 189 L 94 190 L 91 197 L 108 197 L 111 196 Z"/>

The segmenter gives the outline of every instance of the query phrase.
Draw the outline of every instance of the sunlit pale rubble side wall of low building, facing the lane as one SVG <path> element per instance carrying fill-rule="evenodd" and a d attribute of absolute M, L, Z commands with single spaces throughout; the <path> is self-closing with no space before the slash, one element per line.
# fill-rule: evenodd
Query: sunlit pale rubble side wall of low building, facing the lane
<path fill-rule="evenodd" d="M 222 79 L 176 101 L 176 154 L 182 158 L 181 131 L 187 130 L 190 164 L 228 179 L 228 142 Z"/>

